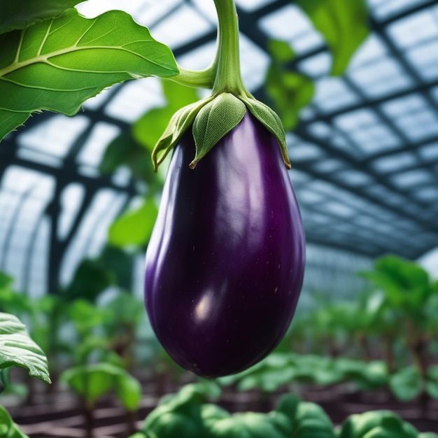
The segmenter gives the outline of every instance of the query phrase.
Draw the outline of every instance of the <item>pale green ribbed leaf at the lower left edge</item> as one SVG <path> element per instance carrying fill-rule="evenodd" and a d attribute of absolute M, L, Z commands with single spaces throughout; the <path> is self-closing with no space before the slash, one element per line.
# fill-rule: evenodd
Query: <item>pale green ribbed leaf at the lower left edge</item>
<path fill-rule="evenodd" d="M 0 313 L 0 368 L 24 367 L 29 375 L 50 383 L 45 354 L 32 341 L 24 324 L 8 313 Z"/>

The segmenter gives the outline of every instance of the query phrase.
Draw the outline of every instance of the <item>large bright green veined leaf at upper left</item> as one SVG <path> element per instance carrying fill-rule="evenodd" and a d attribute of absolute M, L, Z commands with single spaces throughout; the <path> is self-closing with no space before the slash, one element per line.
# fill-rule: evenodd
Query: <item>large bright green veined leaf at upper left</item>
<path fill-rule="evenodd" d="M 171 50 L 120 10 L 92 19 L 67 9 L 57 18 L 0 35 L 0 138 L 47 109 L 78 112 L 85 99 L 127 79 L 174 76 Z"/>

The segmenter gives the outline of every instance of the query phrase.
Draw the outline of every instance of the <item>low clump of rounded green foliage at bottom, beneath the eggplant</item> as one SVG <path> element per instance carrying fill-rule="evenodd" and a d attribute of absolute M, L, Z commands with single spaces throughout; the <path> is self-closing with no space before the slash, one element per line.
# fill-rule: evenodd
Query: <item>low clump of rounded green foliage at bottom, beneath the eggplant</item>
<path fill-rule="evenodd" d="M 320 407 L 289 395 L 269 414 L 229 414 L 206 400 L 205 388 L 184 386 L 148 415 L 143 433 L 157 438 L 334 438 L 333 425 Z"/>

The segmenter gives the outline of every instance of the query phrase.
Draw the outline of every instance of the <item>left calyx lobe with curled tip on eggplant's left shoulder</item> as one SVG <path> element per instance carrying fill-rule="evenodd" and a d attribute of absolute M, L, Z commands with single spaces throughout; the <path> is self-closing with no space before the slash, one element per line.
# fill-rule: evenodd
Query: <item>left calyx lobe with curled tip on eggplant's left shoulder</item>
<path fill-rule="evenodd" d="M 188 127 L 192 125 L 199 110 L 212 99 L 213 97 L 208 97 L 207 99 L 195 102 L 195 104 L 184 106 L 172 115 L 169 125 L 167 125 L 167 128 L 152 151 L 155 171 L 167 157 L 167 154 L 176 146 L 176 143 L 180 141 Z"/>

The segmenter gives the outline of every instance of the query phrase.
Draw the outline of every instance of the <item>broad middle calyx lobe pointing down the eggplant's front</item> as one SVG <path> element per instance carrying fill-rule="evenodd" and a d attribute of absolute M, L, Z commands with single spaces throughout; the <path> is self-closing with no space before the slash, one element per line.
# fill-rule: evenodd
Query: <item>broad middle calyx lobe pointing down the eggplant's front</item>
<path fill-rule="evenodd" d="M 225 134 L 241 122 L 245 113 L 245 104 L 230 93 L 219 94 L 199 110 L 193 122 L 196 155 L 190 163 L 192 169 Z"/>

